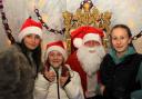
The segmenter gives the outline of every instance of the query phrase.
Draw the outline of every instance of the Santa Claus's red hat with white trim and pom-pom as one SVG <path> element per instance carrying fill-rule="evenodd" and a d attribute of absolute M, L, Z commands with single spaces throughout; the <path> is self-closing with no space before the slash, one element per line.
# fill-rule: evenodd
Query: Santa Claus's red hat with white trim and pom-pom
<path fill-rule="evenodd" d="M 73 40 L 73 46 L 77 48 L 81 47 L 84 42 L 89 40 L 95 40 L 102 43 L 101 38 L 103 36 L 104 33 L 101 29 L 89 26 L 80 27 L 71 32 L 71 39 Z"/>

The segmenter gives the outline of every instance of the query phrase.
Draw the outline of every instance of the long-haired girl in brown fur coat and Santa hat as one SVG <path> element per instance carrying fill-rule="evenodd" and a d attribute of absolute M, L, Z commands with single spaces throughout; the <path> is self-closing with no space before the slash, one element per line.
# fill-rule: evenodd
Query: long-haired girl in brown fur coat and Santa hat
<path fill-rule="evenodd" d="M 27 19 L 18 43 L 0 52 L 0 99 L 33 99 L 41 65 L 41 23 Z"/>

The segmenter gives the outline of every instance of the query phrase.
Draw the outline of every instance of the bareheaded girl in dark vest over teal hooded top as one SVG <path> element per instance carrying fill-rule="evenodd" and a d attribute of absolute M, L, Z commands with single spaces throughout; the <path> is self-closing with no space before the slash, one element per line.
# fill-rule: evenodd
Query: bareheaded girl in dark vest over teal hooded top
<path fill-rule="evenodd" d="M 116 24 L 112 28 L 112 48 L 104 57 L 100 73 L 104 99 L 130 99 L 132 91 L 140 89 L 142 78 L 138 75 L 142 67 L 142 56 L 136 53 L 129 27 Z"/>

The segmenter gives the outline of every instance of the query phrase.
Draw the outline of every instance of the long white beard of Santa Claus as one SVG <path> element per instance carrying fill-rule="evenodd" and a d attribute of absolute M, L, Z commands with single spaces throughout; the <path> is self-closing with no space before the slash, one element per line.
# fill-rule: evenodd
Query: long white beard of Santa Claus
<path fill-rule="evenodd" d="M 92 51 L 92 52 L 90 52 Z M 94 52 L 93 52 L 94 51 Z M 77 57 L 87 72 L 87 75 L 92 76 L 100 69 L 100 63 L 104 57 L 105 51 L 102 46 L 89 48 L 82 46 L 77 51 Z"/>

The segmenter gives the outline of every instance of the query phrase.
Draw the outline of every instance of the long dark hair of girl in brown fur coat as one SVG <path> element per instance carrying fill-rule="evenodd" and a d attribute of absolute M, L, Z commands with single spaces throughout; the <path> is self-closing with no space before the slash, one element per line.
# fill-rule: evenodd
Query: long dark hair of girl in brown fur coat
<path fill-rule="evenodd" d="M 33 59 L 33 62 L 36 63 L 36 67 L 37 67 L 37 73 L 40 71 L 41 69 L 41 43 L 34 49 L 34 50 L 30 50 L 26 47 L 23 40 L 21 41 L 21 43 L 18 43 L 20 47 L 21 47 L 21 50 L 23 52 L 23 55 L 27 57 L 27 59 L 29 60 L 30 65 L 31 65 L 31 61 L 28 57 L 28 52 L 29 51 L 32 51 L 32 59 Z"/>

